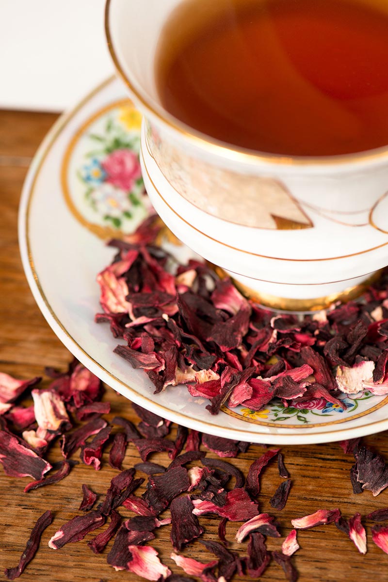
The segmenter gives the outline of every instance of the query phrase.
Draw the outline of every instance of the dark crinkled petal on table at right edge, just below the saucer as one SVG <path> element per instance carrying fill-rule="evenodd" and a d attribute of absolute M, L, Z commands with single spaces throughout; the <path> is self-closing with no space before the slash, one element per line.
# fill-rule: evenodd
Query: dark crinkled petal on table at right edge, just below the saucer
<path fill-rule="evenodd" d="M 356 452 L 357 481 L 362 483 L 362 489 L 369 489 L 373 495 L 379 495 L 388 487 L 388 465 L 378 453 L 373 453 L 365 446 L 361 446 Z"/>

